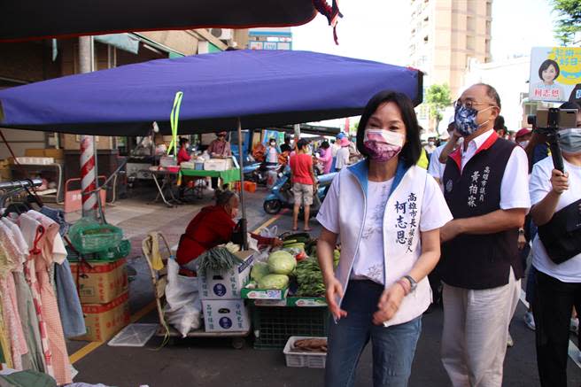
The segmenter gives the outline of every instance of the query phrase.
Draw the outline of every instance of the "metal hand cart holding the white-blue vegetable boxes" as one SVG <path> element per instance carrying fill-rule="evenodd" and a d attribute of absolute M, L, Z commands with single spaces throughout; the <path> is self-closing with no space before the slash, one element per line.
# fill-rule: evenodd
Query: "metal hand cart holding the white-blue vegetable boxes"
<path fill-rule="evenodd" d="M 151 235 L 153 234 L 153 235 Z M 175 340 L 182 338 L 182 334 L 170 326 L 164 315 L 164 306 L 166 303 L 166 286 L 167 286 L 167 259 L 172 259 L 172 249 L 167 243 L 167 239 L 163 234 L 159 232 L 151 233 L 150 236 L 146 236 L 142 242 L 142 252 L 145 260 L 147 261 L 147 266 L 150 268 L 151 273 L 151 283 L 153 284 L 153 294 L 155 296 L 155 303 L 158 310 L 159 317 L 159 329 L 156 332 L 156 336 L 164 337 L 167 339 L 167 344 L 174 344 Z M 159 253 L 161 256 L 161 261 L 163 262 L 163 268 L 156 270 L 153 267 L 153 238 L 158 237 L 164 244 L 164 249 L 161 248 L 161 243 L 159 243 Z M 232 347 L 235 349 L 244 348 L 245 337 L 250 335 L 251 329 L 244 332 L 205 332 L 203 328 L 190 330 L 187 337 L 221 337 L 230 338 Z"/>

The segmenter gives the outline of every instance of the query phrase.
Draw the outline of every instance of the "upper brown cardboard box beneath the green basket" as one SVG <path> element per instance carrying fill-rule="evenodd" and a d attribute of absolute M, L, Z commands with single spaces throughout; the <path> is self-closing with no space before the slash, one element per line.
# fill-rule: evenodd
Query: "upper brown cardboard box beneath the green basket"
<path fill-rule="evenodd" d="M 125 259 L 71 262 L 71 271 L 74 278 L 79 273 L 81 304 L 106 304 L 128 290 Z"/>

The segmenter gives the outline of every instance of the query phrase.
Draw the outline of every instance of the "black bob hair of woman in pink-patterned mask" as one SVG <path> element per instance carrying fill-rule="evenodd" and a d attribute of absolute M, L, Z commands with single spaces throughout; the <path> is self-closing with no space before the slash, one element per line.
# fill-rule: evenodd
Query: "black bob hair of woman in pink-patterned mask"
<path fill-rule="evenodd" d="M 368 151 L 363 146 L 365 128 L 368 126 L 368 120 L 371 118 L 373 113 L 377 111 L 379 106 L 388 102 L 398 105 L 399 112 L 401 112 L 401 119 L 404 121 L 404 125 L 406 126 L 406 144 L 399 153 L 399 159 L 403 161 L 406 166 L 414 166 L 422 155 L 420 129 L 414 112 L 414 104 L 412 104 L 412 100 L 403 93 L 383 90 L 371 97 L 367 106 L 365 106 L 359 121 L 359 128 L 357 129 L 357 150 L 360 151 L 363 156 L 369 156 Z"/>

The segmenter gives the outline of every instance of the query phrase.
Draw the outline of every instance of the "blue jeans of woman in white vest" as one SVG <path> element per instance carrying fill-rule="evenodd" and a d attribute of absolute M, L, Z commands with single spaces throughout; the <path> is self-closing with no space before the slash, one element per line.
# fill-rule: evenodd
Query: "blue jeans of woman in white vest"
<path fill-rule="evenodd" d="M 383 286 L 371 281 L 351 281 L 342 309 L 347 317 L 330 320 L 325 387 L 351 387 L 361 352 L 373 345 L 373 385 L 405 387 L 412 371 L 415 344 L 422 331 L 422 316 L 391 327 L 373 324 L 373 313 Z"/>

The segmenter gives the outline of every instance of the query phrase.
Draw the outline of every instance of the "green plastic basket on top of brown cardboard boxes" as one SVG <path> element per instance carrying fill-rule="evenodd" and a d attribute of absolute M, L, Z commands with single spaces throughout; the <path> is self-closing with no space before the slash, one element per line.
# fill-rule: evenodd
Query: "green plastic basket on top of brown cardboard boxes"
<path fill-rule="evenodd" d="M 82 218 L 69 230 L 69 236 L 74 248 L 81 254 L 87 254 L 117 247 L 123 239 L 123 230 Z"/>

